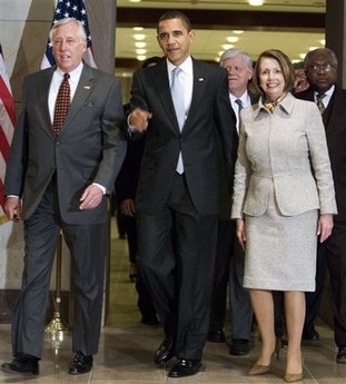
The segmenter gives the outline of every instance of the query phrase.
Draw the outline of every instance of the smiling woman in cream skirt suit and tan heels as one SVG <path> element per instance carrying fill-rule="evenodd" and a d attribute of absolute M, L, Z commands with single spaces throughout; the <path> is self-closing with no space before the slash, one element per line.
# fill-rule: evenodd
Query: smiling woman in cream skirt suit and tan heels
<path fill-rule="evenodd" d="M 336 214 L 325 130 L 314 102 L 290 90 L 294 70 L 279 50 L 263 52 L 254 86 L 261 97 L 241 111 L 233 218 L 245 248 L 249 288 L 263 344 L 251 375 L 270 368 L 276 349 L 271 291 L 285 295 L 288 348 L 285 381 L 303 380 L 305 294 L 315 289 L 317 236 Z"/>

